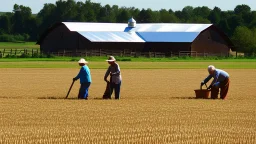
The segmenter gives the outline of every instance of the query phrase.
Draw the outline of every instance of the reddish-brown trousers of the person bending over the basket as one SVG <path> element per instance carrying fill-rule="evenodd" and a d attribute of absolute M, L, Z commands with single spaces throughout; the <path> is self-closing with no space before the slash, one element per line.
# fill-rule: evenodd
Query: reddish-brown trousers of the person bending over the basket
<path fill-rule="evenodd" d="M 212 87 L 211 88 L 211 98 L 212 99 L 218 98 L 219 89 L 220 89 L 220 98 L 225 99 L 228 94 L 229 83 L 230 83 L 229 78 L 227 78 L 223 82 L 220 82 L 219 87 Z"/>

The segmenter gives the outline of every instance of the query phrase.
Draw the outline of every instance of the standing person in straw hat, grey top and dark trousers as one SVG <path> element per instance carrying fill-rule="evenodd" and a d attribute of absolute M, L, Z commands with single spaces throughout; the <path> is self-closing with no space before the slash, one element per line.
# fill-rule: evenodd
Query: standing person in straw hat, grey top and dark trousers
<path fill-rule="evenodd" d="M 113 56 L 110 56 L 106 61 L 110 66 L 105 73 L 104 80 L 110 83 L 110 98 L 113 93 L 113 89 L 115 89 L 115 99 L 120 99 L 120 88 L 122 82 L 120 67 Z M 107 80 L 109 75 L 110 81 Z"/>

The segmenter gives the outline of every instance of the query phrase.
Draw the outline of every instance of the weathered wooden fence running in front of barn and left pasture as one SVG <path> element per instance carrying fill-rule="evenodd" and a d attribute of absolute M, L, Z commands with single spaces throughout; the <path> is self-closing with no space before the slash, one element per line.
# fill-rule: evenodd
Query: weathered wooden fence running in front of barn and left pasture
<path fill-rule="evenodd" d="M 0 49 L 0 57 L 6 56 L 20 56 L 22 54 L 33 56 L 35 54 L 40 55 L 39 49 Z M 179 52 L 136 52 L 130 50 L 87 50 L 87 51 L 58 51 L 49 52 L 46 54 L 51 54 L 55 56 L 69 56 L 69 57 L 87 57 L 87 56 L 121 56 L 121 57 L 209 57 L 209 56 L 229 56 L 229 53 L 198 53 L 196 51 L 179 51 Z"/>

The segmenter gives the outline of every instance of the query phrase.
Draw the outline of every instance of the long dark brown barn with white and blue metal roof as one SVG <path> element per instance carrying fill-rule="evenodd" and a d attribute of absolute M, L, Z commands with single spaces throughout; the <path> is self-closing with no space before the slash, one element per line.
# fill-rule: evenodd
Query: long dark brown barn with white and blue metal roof
<path fill-rule="evenodd" d="M 229 55 L 235 47 L 212 24 L 145 23 L 131 18 L 125 23 L 56 23 L 40 37 L 43 53 L 100 51 L 165 55 Z"/>

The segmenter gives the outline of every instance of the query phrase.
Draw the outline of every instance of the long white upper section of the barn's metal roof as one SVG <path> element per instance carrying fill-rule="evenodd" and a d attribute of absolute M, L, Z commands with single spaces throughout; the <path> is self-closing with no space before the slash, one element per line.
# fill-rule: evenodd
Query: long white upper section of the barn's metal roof
<path fill-rule="evenodd" d="M 125 23 L 62 22 L 70 31 L 201 32 L 212 24 L 145 23 L 135 28 Z"/>

